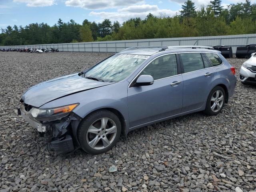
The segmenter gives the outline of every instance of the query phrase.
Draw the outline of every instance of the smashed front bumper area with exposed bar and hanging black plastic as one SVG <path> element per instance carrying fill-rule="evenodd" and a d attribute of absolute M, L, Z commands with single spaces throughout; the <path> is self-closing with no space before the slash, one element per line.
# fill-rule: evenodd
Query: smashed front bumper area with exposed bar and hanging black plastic
<path fill-rule="evenodd" d="M 76 130 L 81 119 L 76 114 L 70 113 L 65 118 L 51 122 L 39 122 L 26 111 L 24 105 L 18 108 L 18 114 L 45 138 L 56 154 L 66 154 L 79 147 Z"/>

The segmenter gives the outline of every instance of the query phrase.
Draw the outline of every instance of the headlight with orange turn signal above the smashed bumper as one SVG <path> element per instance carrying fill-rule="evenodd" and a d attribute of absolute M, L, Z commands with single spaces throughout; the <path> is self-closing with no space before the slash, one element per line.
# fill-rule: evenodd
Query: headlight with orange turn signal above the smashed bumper
<path fill-rule="evenodd" d="M 66 106 L 56 107 L 56 108 L 48 108 L 48 109 L 38 109 L 33 107 L 29 112 L 36 120 L 54 121 L 67 116 L 78 105 L 79 103 L 76 103 L 76 104 L 71 104 L 71 105 L 66 105 Z"/>

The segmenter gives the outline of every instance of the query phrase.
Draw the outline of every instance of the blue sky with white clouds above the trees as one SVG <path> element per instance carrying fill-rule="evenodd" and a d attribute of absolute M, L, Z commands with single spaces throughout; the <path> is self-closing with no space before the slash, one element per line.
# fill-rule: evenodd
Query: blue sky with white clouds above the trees
<path fill-rule="evenodd" d="M 102 22 L 105 18 L 121 24 L 130 18 L 144 19 L 148 13 L 155 16 L 179 14 L 185 0 L 0 0 L 0 28 L 26 26 L 30 23 L 47 23 L 50 26 L 61 18 L 64 22 L 73 19 L 82 24 L 84 19 Z M 208 5 L 210 0 L 193 0 L 196 7 Z M 222 0 L 230 3 L 245 0 Z M 256 0 L 251 0 L 255 3 Z"/>

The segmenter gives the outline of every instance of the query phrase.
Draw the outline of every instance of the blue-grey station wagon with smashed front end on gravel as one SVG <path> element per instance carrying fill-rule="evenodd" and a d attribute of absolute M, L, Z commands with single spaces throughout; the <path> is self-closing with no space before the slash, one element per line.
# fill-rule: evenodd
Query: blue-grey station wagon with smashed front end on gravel
<path fill-rule="evenodd" d="M 99 154 L 136 128 L 198 111 L 216 115 L 235 86 L 235 68 L 212 47 L 133 47 L 29 88 L 18 113 L 56 153 Z"/>

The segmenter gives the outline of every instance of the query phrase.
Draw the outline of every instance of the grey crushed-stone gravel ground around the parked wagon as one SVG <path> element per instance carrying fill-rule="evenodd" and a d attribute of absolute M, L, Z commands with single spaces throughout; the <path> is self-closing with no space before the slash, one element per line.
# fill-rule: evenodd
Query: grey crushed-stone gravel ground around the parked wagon
<path fill-rule="evenodd" d="M 199 112 L 132 131 L 106 154 L 49 154 L 15 113 L 20 96 L 110 55 L 0 52 L 0 192 L 256 191 L 256 86 L 240 82 L 217 116 Z M 244 61 L 229 59 L 237 72 Z"/>

